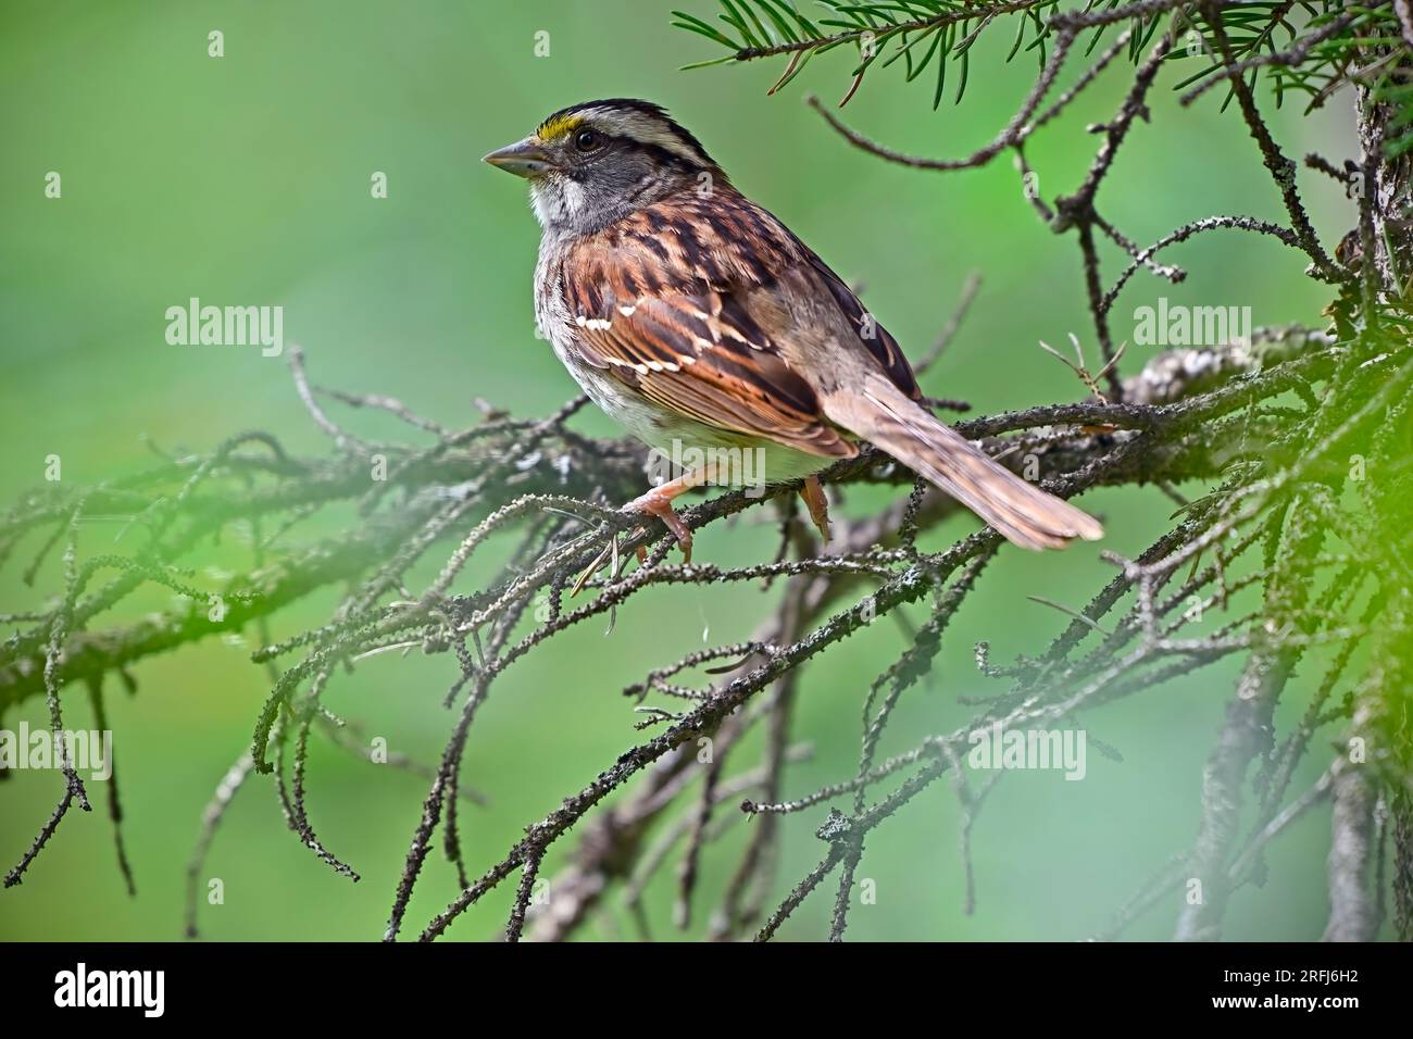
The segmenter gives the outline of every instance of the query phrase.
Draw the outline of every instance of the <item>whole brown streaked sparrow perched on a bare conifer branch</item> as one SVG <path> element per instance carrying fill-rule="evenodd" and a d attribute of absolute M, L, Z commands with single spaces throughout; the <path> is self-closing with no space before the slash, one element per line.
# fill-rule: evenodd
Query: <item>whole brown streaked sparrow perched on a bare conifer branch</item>
<path fill-rule="evenodd" d="M 623 506 L 663 520 L 687 560 L 691 530 L 673 500 L 740 482 L 743 452 L 769 483 L 804 481 L 828 543 L 818 474 L 865 444 L 1022 548 L 1104 536 L 938 420 L 848 284 L 660 105 L 571 105 L 483 161 L 528 181 L 536 324 L 569 375 L 640 441 L 702 461 Z"/>

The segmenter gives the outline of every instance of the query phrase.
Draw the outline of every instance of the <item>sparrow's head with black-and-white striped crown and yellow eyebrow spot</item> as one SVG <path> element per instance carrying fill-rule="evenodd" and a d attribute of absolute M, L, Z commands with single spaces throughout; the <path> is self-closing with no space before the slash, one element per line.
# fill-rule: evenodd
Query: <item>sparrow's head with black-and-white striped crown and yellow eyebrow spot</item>
<path fill-rule="evenodd" d="M 545 228 L 589 233 L 675 191 L 711 191 L 726 177 L 658 105 L 616 98 L 555 112 L 486 163 L 530 181 Z"/>

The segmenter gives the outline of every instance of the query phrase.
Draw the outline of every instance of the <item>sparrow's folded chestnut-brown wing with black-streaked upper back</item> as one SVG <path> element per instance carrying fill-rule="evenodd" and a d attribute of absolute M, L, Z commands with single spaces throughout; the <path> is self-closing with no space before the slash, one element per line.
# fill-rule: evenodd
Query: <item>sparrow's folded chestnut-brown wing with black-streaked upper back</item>
<path fill-rule="evenodd" d="M 582 359 L 708 425 L 858 454 L 757 319 L 766 287 L 805 260 L 803 246 L 735 192 L 704 202 L 650 206 L 571 247 L 565 304 Z"/>

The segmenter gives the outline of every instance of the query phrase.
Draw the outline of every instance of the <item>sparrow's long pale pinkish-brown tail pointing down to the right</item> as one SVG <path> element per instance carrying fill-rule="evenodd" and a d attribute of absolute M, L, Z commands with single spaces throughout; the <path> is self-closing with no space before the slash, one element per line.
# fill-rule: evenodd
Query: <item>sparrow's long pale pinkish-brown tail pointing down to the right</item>
<path fill-rule="evenodd" d="M 1064 548 L 1104 537 L 1088 513 L 1002 468 L 882 373 L 822 400 L 828 418 L 921 474 L 1022 548 Z"/>

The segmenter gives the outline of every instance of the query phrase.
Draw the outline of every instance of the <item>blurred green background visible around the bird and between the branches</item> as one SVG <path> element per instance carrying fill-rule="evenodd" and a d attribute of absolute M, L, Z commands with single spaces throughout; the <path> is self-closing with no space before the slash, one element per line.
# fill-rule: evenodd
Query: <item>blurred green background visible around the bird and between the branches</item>
<path fill-rule="evenodd" d="M 709 17 L 706 0 L 674 0 Z M 66 482 L 93 482 L 151 461 L 162 450 L 205 451 L 230 433 L 264 428 L 294 450 L 322 450 L 284 359 L 256 348 L 170 346 L 164 311 L 198 295 L 211 304 L 281 304 L 284 334 L 307 351 L 314 382 L 400 397 L 448 425 L 476 420 L 483 397 L 517 416 L 548 411 L 575 387 L 548 345 L 533 336 L 530 278 L 538 229 L 524 185 L 479 163 L 528 133 L 560 106 L 605 96 L 664 103 L 694 130 L 749 195 L 781 216 L 851 281 L 870 310 L 917 356 L 941 328 L 971 270 L 985 278 L 959 336 L 928 373 L 937 396 L 979 411 L 1077 399 L 1081 387 L 1036 344 L 1089 342 L 1078 250 L 1046 232 L 1007 161 L 951 175 L 907 171 L 849 148 L 801 105 L 805 90 L 838 98 L 849 61 L 814 62 L 780 96 L 766 89 L 779 64 L 680 72 L 718 57 L 668 28 L 668 4 L 595 3 L 21 3 L 0 13 L 0 500 L 42 481 L 58 454 Z M 225 57 L 208 57 L 208 33 Z M 536 57 L 536 33 L 550 55 Z M 900 69 L 873 75 L 845 110 L 851 124 L 893 147 L 966 154 L 1005 124 L 1034 71 L 1034 55 L 1000 64 L 1003 30 L 974 54 L 959 107 L 930 107 L 931 88 Z M 1000 37 L 1005 35 L 1006 40 Z M 1070 71 L 1071 75 L 1074 69 Z M 926 76 L 924 76 L 926 79 Z M 1169 75 L 1170 85 L 1176 76 Z M 1126 82 L 1106 75 L 1081 105 L 1027 148 L 1040 191 L 1053 198 L 1082 177 L 1096 147 L 1084 123 L 1108 117 Z M 1217 92 L 1191 110 L 1156 90 L 1153 123 L 1139 124 L 1099 196 L 1101 211 L 1139 242 L 1208 213 L 1280 219 L 1279 199 L 1239 120 L 1218 115 Z M 1269 105 L 1267 105 L 1269 106 Z M 1355 154 L 1348 99 L 1303 117 L 1287 106 L 1273 124 L 1289 154 Z M 49 171 L 62 198 L 44 196 Z M 370 196 L 384 171 L 389 198 Z M 1327 182 L 1303 177 L 1327 243 L 1352 222 Z M 1317 322 L 1327 303 L 1301 277 L 1297 253 L 1270 239 L 1211 235 L 1173 250 L 1191 277 L 1130 283 L 1115 314 L 1159 295 L 1174 303 L 1249 305 L 1260 324 Z M 1122 260 L 1106 253 L 1106 276 Z M 1129 370 L 1152 348 L 1132 349 Z M 1092 351 L 1091 351 L 1092 355 Z M 357 425 L 360 416 L 349 416 Z M 582 413 L 577 425 L 606 433 Z M 383 428 L 363 427 L 363 428 Z M 1190 491 L 1200 491 L 1191 488 Z M 863 499 L 858 499 L 862 502 Z M 856 502 L 851 502 L 856 505 Z M 1106 541 L 1136 553 L 1171 503 L 1157 491 L 1087 499 L 1108 519 Z M 968 529 L 958 519 L 938 537 Z M 85 551 L 112 550 L 116 530 L 85 527 Z M 312 532 L 311 532 L 312 536 Z M 701 558 L 769 554 L 769 527 L 712 529 Z M 0 571 L 0 611 L 34 608 L 52 594 L 57 560 L 34 589 L 20 573 L 37 550 L 25 541 Z M 1064 556 L 1003 551 L 950 629 L 928 688 L 904 698 L 882 753 L 957 725 L 958 697 L 998 691 L 971 662 L 989 639 L 993 659 L 1034 649 L 1065 618 L 1027 595 L 1080 606 L 1111 575 L 1095 547 Z M 239 565 L 209 550 L 196 563 Z M 695 598 L 694 598 L 695 597 Z M 165 592 L 134 598 L 129 614 L 160 609 Z M 276 619 L 276 635 L 319 623 L 331 595 Z M 462 813 L 469 865 L 499 859 L 569 790 L 637 742 L 637 720 L 619 690 L 687 649 L 745 638 L 773 598 L 747 588 L 657 592 L 622 611 L 603 638 L 593 625 L 555 639 L 509 671 L 478 717 L 465 780 L 490 803 Z M 917 619 L 914 612 L 913 618 Z M 859 703 L 869 679 L 903 647 L 892 623 L 875 625 L 805 673 L 797 738 L 812 741 L 786 793 L 800 796 L 852 773 Z M 174 939 L 182 881 L 202 807 L 225 769 L 249 746 L 264 671 L 249 645 L 212 640 L 153 659 L 136 671 L 133 698 L 110 697 L 138 895 L 130 899 L 113 861 L 102 809 L 71 814 L 24 884 L 0 892 L 4 939 Z M 445 657 L 384 654 L 335 680 L 328 703 L 384 735 L 391 749 L 434 762 L 451 729 L 441 697 Z M 1089 755 L 1085 782 L 1056 773 L 1007 776 L 974 834 L 978 908 L 961 913 L 957 802 L 935 785 L 869 841 L 861 875 L 877 903 L 852 915 L 868 939 L 1078 939 L 1094 933 L 1150 874 L 1190 847 L 1201 769 L 1218 732 L 1234 669 L 1218 667 L 1105 708 L 1085 721 L 1122 762 Z M 1308 677 L 1291 688 L 1282 722 L 1300 710 Z M 65 700 L 69 724 L 89 714 Z M 3 720 L 41 724 L 31 698 Z M 752 744 L 755 746 L 755 744 Z M 1092 748 L 1091 748 L 1092 749 Z M 1323 746 L 1317 748 L 1317 756 Z M 736 761 L 746 768 L 749 753 Z M 1314 779 L 1311 762 L 1297 787 Z M 206 875 L 225 882 L 223 906 L 202 906 L 212 939 L 376 939 L 391 900 L 425 783 L 380 770 L 319 744 L 309 766 L 309 810 L 325 840 L 363 874 L 357 885 L 315 861 L 284 826 L 268 777 L 236 799 Z M 0 865 L 28 847 L 59 792 L 52 773 L 21 772 L 0 785 Z M 824 810 L 786 821 L 777 892 L 818 858 L 812 831 Z M 709 848 L 702 893 L 719 895 L 747 824 Z M 1328 818 L 1311 813 L 1270 855 L 1265 889 L 1243 891 L 1228 934 L 1318 936 L 1324 923 Z M 555 862 L 572 847 L 557 847 Z M 667 924 L 673 869 L 650 891 L 657 936 Z M 817 895 L 783 930 L 821 937 L 832 902 Z M 428 859 L 407 927 L 456 893 L 439 851 Z M 513 885 L 452 929 L 493 936 Z M 1177 905 L 1130 930 L 1171 933 Z M 705 912 L 698 913 L 704 919 Z M 617 910 L 585 937 L 630 936 Z M 699 932 L 688 932 L 695 936 Z"/>

